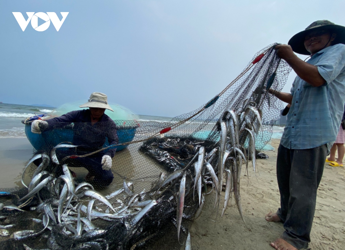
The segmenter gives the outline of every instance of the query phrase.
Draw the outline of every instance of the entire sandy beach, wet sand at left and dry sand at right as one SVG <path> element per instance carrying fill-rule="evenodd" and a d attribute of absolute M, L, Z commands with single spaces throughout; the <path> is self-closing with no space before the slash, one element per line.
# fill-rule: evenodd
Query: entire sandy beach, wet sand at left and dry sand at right
<path fill-rule="evenodd" d="M 279 139 L 272 139 L 271 145 L 275 150 L 265 152 L 269 159 L 257 160 L 258 173 L 256 175 L 252 168 L 249 169 L 249 180 L 247 174 L 242 173 L 240 192 L 246 226 L 239 217 L 234 200 L 231 201 L 224 216 L 220 217 L 216 210 L 213 211 L 215 196 L 210 194 L 206 197 L 203 213 L 190 228 L 193 249 L 273 249 L 269 243 L 279 237 L 284 229 L 282 223 L 269 223 L 264 218 L 267 212 L 276 211 L 280 199 L 275 169 Z M 136 161 L 138 159 L 136 154 L 138 153 L 140 152 L 134 145 L 132 149 L 119 152 L 114 163 L 119 166 L 122 159 L 132 157 L 132 165 L 137 165 L 139 162 Z M 27 139 L 0 139 L 0 169 L 2 170 L 0 188 L 21 186 L 21 172 L 31 156 L 32 146 Z M 249 164 L 249 166 L 251 165 Z M 137 168 L 129 170 L 129 167 L 120 175 L 127 175 L 131 172 L 132 177 L 140 176 Z M 116 169 L 114 170 L 118 172 Z M 79 171 L 81 173 L 82 168 Z M 149 172 L 157 172 L 158 174 L 160 170 L 151 169 Z M 142 186 L 145 184 L 142 183 Z M 317 196 L 311 234 L 311 249 L 344 249 L 344 186 L 345 169 L 334 168 L 325 164 L 324 175 Z M 114 189 L 115 187 L 109 188 Z M 181 249 L 184 247 L 182 246 Z"/>

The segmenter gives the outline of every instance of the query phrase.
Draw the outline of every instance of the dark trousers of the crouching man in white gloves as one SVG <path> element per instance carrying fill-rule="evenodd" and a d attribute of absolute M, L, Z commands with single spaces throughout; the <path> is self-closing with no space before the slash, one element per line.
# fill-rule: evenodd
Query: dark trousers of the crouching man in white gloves
<path fill-rule="evenodd" d="M 79 151 L 76 153 L 73 150 L 60 150 L 59 152 L 56 151 L 56 154 L 59 160 L 73 154 L 82 155 L 86 153 L 88 152 Z M 102 188 L 102 187 L 109 186 L 109 184 L 114 179 L 114 174 L 111 172 L 111 169 L 110 170 L 102 169 L 102 164 L 101 164 L 102 157 L 103 157 L 102 153 L 96 153 L 88 157 L 67 159 L 65 162 L 63 162 L 63 164 L 66 163 L 69 167 L 86 168 L 91 174 L 91 176 L 95 176 L 95 178 L 92 181 L 89 181 L 90 184 L 92 184 L 95 187 Z M 62 169 L 60 171 L 62 171 Z"/>

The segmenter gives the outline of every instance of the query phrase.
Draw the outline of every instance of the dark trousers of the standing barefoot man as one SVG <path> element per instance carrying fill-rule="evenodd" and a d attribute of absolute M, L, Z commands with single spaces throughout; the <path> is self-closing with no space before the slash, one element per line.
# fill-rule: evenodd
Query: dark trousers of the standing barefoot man
<path fill-rule="evenodd" d="M 310 242 L 316 192 L 327 156 L 327 144 L 312 149 L 287 149 L 281 144 L 277 156 L 277 180 L 284 223 L 282 239 L 297 249 Z"/>

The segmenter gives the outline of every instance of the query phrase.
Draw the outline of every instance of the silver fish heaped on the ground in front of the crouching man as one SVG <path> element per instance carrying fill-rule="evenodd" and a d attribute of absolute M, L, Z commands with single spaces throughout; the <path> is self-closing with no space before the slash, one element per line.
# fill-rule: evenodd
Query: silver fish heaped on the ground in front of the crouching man
<path fill-rule="evenodd" d="M 50 160 L 59 164 L 55 150 L 57 148 L 76 147 L 69 144 L 59 144 L 52 151 L 50 158 L 47 154 L 35 155 L 27 164 L 22 174 L 22 183 L 28 189 L 28 193 L 20 198 L 18 202 L 23 202 L 23 207 L 33 198 L 39 200 L 38 206 L 31 207 L 39 216 L 32 218 L 33 222 L 42 223 L 43 229 L 39 231 L 22 230 L 13 232 L 14 240 L 23 240 L 36 237 L 45 230 L 52 230 L 53 226 L 58 226 L 65 236 L 70 239 L 92 238 L 92 242 L 83 242 L 75 246 L 76 249 L 87 249 L 90 246 L 99 246 L 99 249 L 108 249 L 108 243 L 104 240 L 104 228 L 95 226 L 92 221 L 101 219 L 114 221 L 115 219 L 127 219 L 124 223 L 126 230 L 131 232 L 139 220 L 157 204 L 156 200 L 144 200 L 145 189 L 140 193 L 131 190 L 132 183 L 127 183 L 124 179 L 123 187 L 112 192 L 107 196 L 94 190 L 92 185 L 87 182 L 74 182 L 72 174 L 67 166 L 63 164 L 63 175 L 55 178 L 52 174 L 45 171 L 45 167 Z M 34 160 L 42 158 L 42 163 L 37 167 L 32 176 L 30 184 L 24 182 L 26 170 Z M 49 199 L 42 199 L 40 192 L 49 192 Z M 25 202 L 24 202 L 25 201 Z M 21 212 L 24 210 L 11 205 L 3 206 L 0 203 L 0 210 L 16 209 Z M 0 226 L 0 235 L 9 236 L 9 228 L 15 225 Z M 53 235 L 48 239 L 49 249 L 62 249 L 54 239 Z M 26 249 L 30 249 L 26 246 Z"/>

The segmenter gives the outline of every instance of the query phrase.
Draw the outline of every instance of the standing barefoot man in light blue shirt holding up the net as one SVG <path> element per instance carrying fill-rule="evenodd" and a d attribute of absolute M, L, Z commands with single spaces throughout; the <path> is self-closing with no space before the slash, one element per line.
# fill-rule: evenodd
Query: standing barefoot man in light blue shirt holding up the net
<path fill-rule="evenodd" d="M 270 243 L 279 250 L 304 249 L 310 242 L 317 188 L 345 103 L 345 27 L 315 21 L 288 44 L 275 49 L 297 74 L 291 93 L 269 90 L 291 103 L 277 155 L 280 208 L 266 215 L 284 223 L 282 236 Z M 304 62 L 294 52 L 311 58 Z"/>

